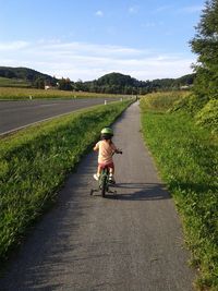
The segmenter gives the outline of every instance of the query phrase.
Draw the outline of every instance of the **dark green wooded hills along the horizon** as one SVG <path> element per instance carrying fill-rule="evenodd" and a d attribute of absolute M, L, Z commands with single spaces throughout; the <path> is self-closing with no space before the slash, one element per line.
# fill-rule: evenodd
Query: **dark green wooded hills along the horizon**
<path fill-rule="evenodd" d="M 94 81 L 72 82 L 70 78 L 58 80 L 27 68 L 0 66 L 0 77 L 25 80 L 29 84 L 29 87 L 36 88 L 45 88 L 45 85 L 49 85 L 65 90 L 135 95 L 190 86 L 194 82 L 195 74 L 184 75 L 179 78 L 138 81 L 130 75 L 113 72 Z"/>

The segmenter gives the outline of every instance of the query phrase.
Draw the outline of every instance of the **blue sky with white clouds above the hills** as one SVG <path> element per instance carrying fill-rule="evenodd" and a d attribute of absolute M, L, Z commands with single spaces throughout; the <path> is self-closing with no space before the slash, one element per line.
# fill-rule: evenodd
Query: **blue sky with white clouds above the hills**
<path fill-rule="evenodd" d="M 202 0 L 0 0 L 0 65 L 72 81 L 192 73 Z"/>

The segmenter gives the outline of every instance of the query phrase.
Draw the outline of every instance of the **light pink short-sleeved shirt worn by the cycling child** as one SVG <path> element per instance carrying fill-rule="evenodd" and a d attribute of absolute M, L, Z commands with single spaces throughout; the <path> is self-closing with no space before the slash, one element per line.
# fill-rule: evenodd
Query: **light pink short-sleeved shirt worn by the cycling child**
<path fill-rule="evenodd" d="M 112 162 L 112 154 L 117 149 L 112 142 L 108 143 L 107 141 L 99 141 L 96 144 L 96 149 L 98 151 L 98 162 L 99 163 L 110 163 Z"/>

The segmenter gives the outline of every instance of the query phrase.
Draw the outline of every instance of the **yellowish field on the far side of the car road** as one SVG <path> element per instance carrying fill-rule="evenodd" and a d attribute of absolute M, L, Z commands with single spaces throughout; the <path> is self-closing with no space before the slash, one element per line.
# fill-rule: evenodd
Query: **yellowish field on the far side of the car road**
<path fill-rule="evenodd" d="M 97 94 L 84 92 L 69 92 L 59 89 L 33 89 L 33 88 L 13 88 L 0 87 L 0 99 L 2 100 L 25 100 L 25 99 L 52 99 L 52 98 L 86 98 L 86 97 L 130 97 L 116 94 Z"/>

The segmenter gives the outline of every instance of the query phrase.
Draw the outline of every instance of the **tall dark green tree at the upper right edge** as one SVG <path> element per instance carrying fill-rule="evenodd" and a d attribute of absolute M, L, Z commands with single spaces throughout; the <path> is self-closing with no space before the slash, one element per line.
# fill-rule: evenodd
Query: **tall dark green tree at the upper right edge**
<path fill-rule="evenodd" d="M 218 0 L 205 3 L 196 35 L 191 40 L 192 51 L 198 54 L 195 93 L 202 99 L 218 98 Z"/>

